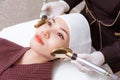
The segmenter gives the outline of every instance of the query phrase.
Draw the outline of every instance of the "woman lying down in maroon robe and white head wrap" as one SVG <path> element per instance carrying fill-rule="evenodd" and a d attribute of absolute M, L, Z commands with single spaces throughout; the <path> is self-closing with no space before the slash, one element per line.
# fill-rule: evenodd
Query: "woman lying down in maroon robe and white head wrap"
<path fill-rule="evenodd" d="M 74 22 L 76 19 L 78 21 Z M 85 35 L 78 32 L 81 27 L 84 27 L 81 32 Z M 78 41 L 83 44 L 79 45 Z M 89 25 L 81 14 L 55 17 L 36 30 L 30 47 L 0 38 L 0 80 L 51 80 L 52 66 L 56 60 L 50 54 L 53 49 L 70 47 L 76 52 L 85 51 L 90 46 Z"/>

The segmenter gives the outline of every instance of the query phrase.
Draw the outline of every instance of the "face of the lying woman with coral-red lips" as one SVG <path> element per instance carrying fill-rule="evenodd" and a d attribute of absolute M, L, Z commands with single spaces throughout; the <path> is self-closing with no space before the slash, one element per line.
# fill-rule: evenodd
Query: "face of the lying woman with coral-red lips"
<path fill-rule="evenodd" d="M 52 59 L 50 53 L 53 49 L 69 47 L 67 24 L 61 18 L 49 20 L 37 29 L 30 46 L 40 56 Z"/>

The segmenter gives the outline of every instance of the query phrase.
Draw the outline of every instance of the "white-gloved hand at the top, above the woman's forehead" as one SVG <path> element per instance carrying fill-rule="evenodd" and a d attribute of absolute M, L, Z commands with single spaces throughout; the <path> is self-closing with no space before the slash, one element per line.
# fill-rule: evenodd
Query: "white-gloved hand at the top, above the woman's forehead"
<path fill-rule="evenodd" d="M 40 18 L 44 14 L 48 17 L 55 17 L 67 12 L 68 10 L 69 5 L 65 1 L 49 2 L 42 6 Z"/>

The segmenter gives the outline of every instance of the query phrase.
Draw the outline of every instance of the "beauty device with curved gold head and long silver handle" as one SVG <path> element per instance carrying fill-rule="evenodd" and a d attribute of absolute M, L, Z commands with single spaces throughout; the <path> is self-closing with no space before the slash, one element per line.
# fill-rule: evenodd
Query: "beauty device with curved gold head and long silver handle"
<path fill-rule="evenodd" d="M 56 58 L 66 58 L 69 57 L 72 60 L 77 60 L 80 64 L 85 65 L 87 67 L 89 67 L 90 69 L 94 70 L 95 72 L 98 72 L 100 74 L 104 74 L 106 76 L 109 76 L 110 73 L 108 71 L 106 71 L 105 69 L 92 64 L 84 59 L 81 59 L 79 57 L 77 57 L 76 53 L 73 53 L 72 50 L 70 48 L 59 48 L 59 49 L 54 49 L 51 53 L 52 56 L 56 57 Z"/>

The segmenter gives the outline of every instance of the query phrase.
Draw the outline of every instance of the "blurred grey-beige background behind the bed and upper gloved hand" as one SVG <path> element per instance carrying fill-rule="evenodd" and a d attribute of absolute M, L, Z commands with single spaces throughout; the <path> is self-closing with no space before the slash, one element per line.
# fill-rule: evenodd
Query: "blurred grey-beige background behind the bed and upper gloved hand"
<path fill-rule="evenodd" d="M 47 0 L 48 2 L 57 0 Z M 43 0 L 0 0 L 0 30 L 39 18 Z M 78 5 L 72 12 L 77 12 Z"/>

